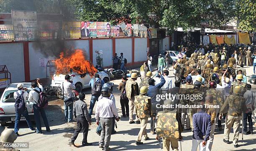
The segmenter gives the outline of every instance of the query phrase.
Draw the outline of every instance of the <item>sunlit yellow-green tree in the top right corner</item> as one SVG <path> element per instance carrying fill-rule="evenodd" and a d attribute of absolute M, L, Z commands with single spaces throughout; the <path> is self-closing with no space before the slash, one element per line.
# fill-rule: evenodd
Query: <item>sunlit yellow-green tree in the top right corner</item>
<path fill-rule="evenodd" d="M 255 0 L 237 0 L 237 18 L 239 29 L 256 31 L 256 3 Z"/>

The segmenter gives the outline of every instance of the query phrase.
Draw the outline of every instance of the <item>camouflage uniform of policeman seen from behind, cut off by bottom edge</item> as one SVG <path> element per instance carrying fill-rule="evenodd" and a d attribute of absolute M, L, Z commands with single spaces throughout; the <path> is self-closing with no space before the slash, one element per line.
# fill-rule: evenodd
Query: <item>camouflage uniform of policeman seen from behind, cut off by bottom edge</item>
<path fill-rule="evenodd" d="M 170 150 L 170 144 L 174 151 L 179 151 L 178 139 L 181 136 L 181 125 L 177 110 L 158 112 L 156 134 L 159 138 L 163 138 L 164 151 Z"/>

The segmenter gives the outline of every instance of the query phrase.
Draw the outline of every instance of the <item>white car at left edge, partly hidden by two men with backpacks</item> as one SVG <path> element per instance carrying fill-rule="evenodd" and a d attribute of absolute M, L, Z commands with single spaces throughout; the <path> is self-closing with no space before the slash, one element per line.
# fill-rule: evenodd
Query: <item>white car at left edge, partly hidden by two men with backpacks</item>
<path fill-rule="evenodd" d="M 11 83 L 7 88 L 5 88 L 5 91 L 3 92 L 1 99 L 0 99 L 0 124 L 1 126 L 5 126 L 6 122 L 14 122 L 15 121 L 15 99 L 13 98 L 13 93 L 18 91 L 17 85 L 19 83 Z M 26 82 L 22 83 L 24 87 L 28 88 L 29 91 L 32 90 L 31 83 Z M 28 109 L 28 115 L 30 117 L 30 120 L 34 120 L 34 113 L 33 113 L 33 103 L 28 102 L 27 103 L 27 109 Z M 20 121 L 26 121 L 26 119 L 21 116 Z"/>

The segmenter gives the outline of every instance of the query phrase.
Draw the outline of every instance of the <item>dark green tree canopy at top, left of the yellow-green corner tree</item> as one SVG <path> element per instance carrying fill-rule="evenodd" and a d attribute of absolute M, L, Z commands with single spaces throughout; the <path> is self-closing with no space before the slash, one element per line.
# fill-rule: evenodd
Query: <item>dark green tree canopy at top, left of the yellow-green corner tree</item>
<path fill-rule="evenodd" d="M 234 17 L 234 0 L 169 0 L 169 8 L 164 10 L 160 24 L 169 33 L 182 27 L 190 30 L 208 23 L 219 27 Z"/>

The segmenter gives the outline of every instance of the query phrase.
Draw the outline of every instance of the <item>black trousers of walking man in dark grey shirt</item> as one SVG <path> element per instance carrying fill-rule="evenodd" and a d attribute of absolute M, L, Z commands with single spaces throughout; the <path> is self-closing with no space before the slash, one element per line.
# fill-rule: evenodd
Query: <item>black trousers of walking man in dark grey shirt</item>
<path fill-rule="evenodd" d="M 77 136 L 81 130 L 84 135 L 82 143 L 87 143 L 89 124 L 85 117 L 77 117 L 77 129 L 74 131 L 71 141 L 75 141 L 77 139 Z"/>

